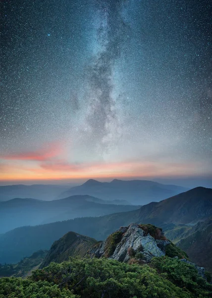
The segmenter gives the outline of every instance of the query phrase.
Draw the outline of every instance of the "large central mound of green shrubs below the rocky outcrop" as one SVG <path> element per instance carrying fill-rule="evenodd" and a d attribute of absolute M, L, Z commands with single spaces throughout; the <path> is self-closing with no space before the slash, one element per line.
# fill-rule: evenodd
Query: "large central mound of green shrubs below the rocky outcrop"
<path fill-rule="evenodd" d="M 191 298 L 148 265 L 110 259 L 71 259 L 33 272 L 33 281 L 48 281 L 73 290 L 81 298 Z"/>

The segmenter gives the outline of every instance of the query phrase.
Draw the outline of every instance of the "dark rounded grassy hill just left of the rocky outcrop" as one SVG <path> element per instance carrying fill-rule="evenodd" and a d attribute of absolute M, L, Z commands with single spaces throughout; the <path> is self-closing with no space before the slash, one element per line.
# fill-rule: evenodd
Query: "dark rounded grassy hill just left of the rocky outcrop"
<path fill-rule="evenodd" d="M 93 238 L 68 232 L 59 240 L 54 241 L 41 268 L 48 266 L 51 262 L 68 261 L 69 257 L 84 257 L 88 249 L 96 242 L 97 240 Z"/>

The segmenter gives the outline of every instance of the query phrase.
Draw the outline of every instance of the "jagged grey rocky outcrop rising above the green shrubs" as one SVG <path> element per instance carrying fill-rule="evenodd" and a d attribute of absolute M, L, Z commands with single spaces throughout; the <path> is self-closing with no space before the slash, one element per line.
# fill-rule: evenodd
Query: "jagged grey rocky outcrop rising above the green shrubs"
<path fill-rule="evenodd" d="M 164 256 L 165 247 L 169 244 L 161 229 L 156 226 L 131 224 L 121 227 L 105 241 L 92 247 L 89 254 L 98 258 L 109 257 L 120 262 L 128 262 L 131 258 L 150 262 L 153 257 Z"/>

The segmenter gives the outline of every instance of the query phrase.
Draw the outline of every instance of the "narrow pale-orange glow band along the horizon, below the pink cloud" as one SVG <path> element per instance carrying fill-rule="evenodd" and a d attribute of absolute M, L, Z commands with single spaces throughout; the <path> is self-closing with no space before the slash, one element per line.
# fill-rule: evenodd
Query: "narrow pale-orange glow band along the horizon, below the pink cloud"
<path fill-rule="evenodd" d="M 4 165 L 1 171 L 1 181 L 18 180 L 63 180 L 63 179 L 86 179 L 86 178 L 114 178 L 114 177 L 165 177 L 165 176 L 186 176 L 197 172 L 199 167 L 191 164 L 161 164 L 150 162 L 114 162 L 114 163 L 94 163 L 80 165 L 65 165 L 62 167 Z M 200 171 L 198 170 L 198 173 Z"/>

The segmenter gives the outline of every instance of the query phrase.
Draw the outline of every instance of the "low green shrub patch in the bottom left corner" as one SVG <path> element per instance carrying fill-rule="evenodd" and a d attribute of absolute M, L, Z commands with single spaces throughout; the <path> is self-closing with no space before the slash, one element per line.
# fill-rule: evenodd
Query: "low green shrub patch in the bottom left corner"
<path fill-rule="evenodd" d="M 0 298 L 77 298 L 68 289 L 47 281 L 3 277 L 0 279 Z"/>

